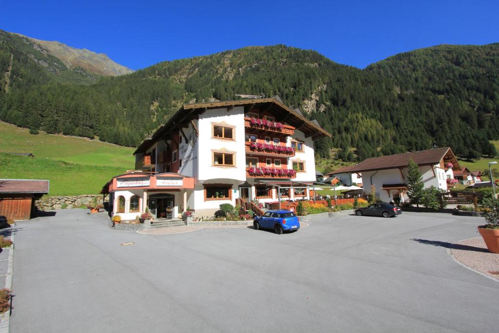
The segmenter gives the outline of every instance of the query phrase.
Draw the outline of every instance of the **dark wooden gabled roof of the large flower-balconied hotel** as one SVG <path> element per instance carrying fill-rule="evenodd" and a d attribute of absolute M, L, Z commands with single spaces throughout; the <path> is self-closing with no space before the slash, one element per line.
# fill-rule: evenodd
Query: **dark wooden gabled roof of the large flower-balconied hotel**
<path fill-rule="evenodd" d="M 245 106 L 246 110 L 251 108 L 268 108 L 276 114 L 277 121 L 283 121 L 295 128 L 299 129 L 305 133 L 305 137 L 312 137 L 313 140 L 320 139 L 325 136 L 331 137 L 332 135 L 326 132 L 322 127 L 317 125 L 305 117 L 302 114 L 298 114 L 296 111 L 291 110 L 289 107 L 284 105 L 282 102 L 274 97 L 270 98 L 257 98 L 257 99 L 239 99 L 231 101 L 219 101 L 219 102 L 208 102 L 208 103 L 192 103 L 184 104 L 169 120 L 168 122 L 158 128 L 156 132 L 145 139 L 139 147 L 133 153 L 143 153 L 149 147 L 151 147 L 154 142 L 165 137 L 172 131 L 179 131 L 183 124 L 186 124 L 190 120 L 196 118 L 199 114 L 205 112 L 208 109 L 216 109 L 223 107 L 234 107 L 234 106 Z M 284 120 L 285 119 L 285 120 Z"/>

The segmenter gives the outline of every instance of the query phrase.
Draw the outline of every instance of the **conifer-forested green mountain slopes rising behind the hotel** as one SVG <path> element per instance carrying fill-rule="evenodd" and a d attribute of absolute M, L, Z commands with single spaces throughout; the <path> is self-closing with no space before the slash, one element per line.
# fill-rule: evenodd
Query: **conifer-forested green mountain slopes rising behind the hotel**
<path fill-rule="evenodd" d="M 332 139 L 317 142 L 322 156 L 331 147 L 356 147 L 357 158 L 363 159 L 435 143 L 453 146 L 461 154 L 470 148 L 488 153 L 487 140 L 499 138 L 499 98 L 480 96 L 481 87 L 497 84 L 499 47 L 451 46 L 438 52 L 444 55 L 435 54 L 434 49 L 441 48 L 404 53 L 361 70 L 316 51 L 283 45 L 246 47 L 161 62 L 90 85 L 47 79 L 33 82 L 30 89 L 27 84 L 8 93 L 0 89 L 0 119 L 49 133 L 97 135 L 104 141 L 137 145 L 184 102 L 235 99 L 241 93 L 278 94 L 333 134 Z M 445 54 L 453 52 L 462 53 L 459 66 L 448 65 L 452 60 Z M 414 60 L 414 67 L 404 63 L 420 54 L 423 65 L 420 60 Z M 26 59 L 26 66 L 36 65 Z M 495 74 L 487 73 L 491 68 L 496 68 Z M 7 67 L 0 62 L 0 69 L 5 73 Z M 463 71 L 473 76 L 463 76 Z M 446 82 L 445 77 L 461 90 L 452 88 L 447 95 L 428 83 Z M 454 94 L 463 90 L 466 95 Z"/>

